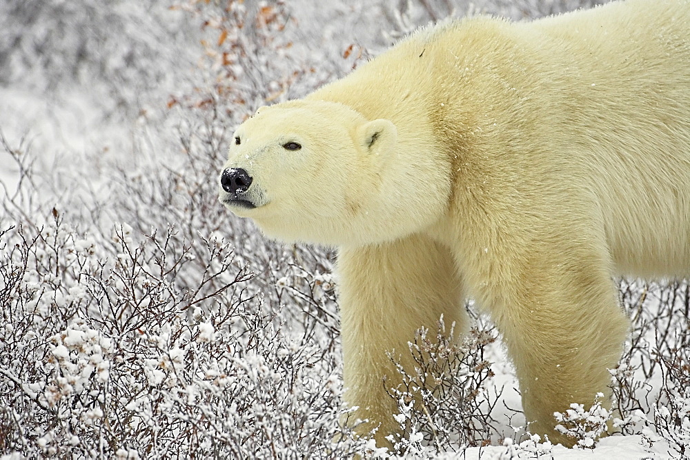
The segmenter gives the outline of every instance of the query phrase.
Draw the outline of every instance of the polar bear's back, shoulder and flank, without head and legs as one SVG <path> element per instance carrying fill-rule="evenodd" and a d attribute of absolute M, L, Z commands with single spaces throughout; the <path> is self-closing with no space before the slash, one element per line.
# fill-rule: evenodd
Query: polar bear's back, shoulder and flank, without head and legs
<path fill-rule="evenodd" d="M 458 207 L 582 216 L 618 271 L 690 274 L 689 29 L 687 0 L 449 21 L 309 98 L 391 119 L 404 161 L 440 151 Z"/>

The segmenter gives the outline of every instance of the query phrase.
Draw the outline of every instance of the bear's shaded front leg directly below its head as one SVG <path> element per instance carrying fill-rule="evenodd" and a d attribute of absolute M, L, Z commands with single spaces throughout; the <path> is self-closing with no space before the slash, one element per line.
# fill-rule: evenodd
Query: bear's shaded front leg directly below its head
<path fill-rule="evenodd" d="M 349 419 L 363 436 L 377 428 L 378 446 L 391 447 L 389 434 L 400 435 L 393 419 L 395 401 L 386 389 L 400 374 L 386 352 L 395 350 L 412 373 L 408 342 L 415 331 L 437 329 L 441 315 L 447 330 L 467 327 L 462 288 L 448 248 L 414 235 L 391 243 L 342 248 L 338 255 L 345 400 L 357 406 Z M 385 383 L 384 383 L 385 377 Z"/>

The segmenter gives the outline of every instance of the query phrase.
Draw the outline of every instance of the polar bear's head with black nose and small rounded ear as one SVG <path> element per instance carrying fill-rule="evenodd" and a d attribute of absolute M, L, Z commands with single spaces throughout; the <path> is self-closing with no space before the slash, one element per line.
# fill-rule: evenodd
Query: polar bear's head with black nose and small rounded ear
<path fill-rule="evenodd" d="M 233 135 L 219 200 L 268 237 L 328 246 L 377 243 L 428 223 L 415 170 L 395 125 L 341 103 L 288 101 L 260 108 Z M 417 173 L 426 177 L 411 177 Z M 415 181 L 420 179 L 420 181 Z"/>

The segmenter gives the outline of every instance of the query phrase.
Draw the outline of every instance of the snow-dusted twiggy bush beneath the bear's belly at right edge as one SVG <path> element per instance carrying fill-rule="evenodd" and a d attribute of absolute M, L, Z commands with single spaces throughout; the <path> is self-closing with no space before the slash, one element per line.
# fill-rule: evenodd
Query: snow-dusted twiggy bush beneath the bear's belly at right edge
<path fill-rule="evenodd" d="M 641 434 L 648 446 L 673 457 L 687 457 L 690 286 L 622 281 L 620 293 L 633 327 L 627 352 L 611 370 L 613 428 Z"/>

